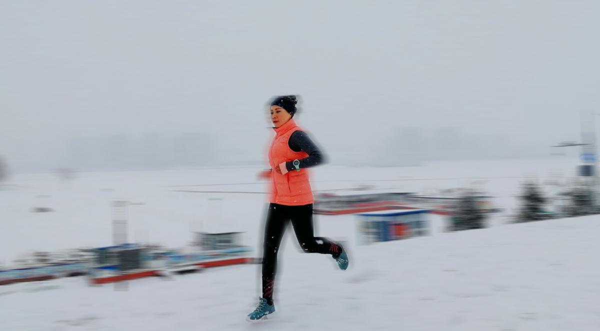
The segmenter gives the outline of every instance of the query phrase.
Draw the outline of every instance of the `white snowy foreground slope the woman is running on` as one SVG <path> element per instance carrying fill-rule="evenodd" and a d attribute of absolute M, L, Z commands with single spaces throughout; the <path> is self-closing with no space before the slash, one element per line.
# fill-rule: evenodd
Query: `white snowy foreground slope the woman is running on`
<path fill-rule="evenodd" d="M 0 320 L 2 330 L 598 330 L 599 230 L 586 216 L 352 246 L 347 272 L 288 238 L 278 315 L 259 326 L 244 321 L 256 265 L 128 291 L 82 278 L 3 286 Z M 44 285 L 59 288 L 33 291 Z"/>

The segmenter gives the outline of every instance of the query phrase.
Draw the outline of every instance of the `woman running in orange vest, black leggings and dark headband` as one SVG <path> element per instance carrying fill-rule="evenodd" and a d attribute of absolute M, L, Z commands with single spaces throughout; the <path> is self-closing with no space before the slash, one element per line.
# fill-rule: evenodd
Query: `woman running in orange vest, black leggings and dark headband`
<path fill-rule="evenodd" d="M 293 120 L 298 100 L 295 95 L 275 97 L 269 110 L 275 137 L 269 148 L 270 170 L 262 177 L 271 180 L 271 196 L 266 216 L 262 259 L 262 297 L 248 321 L 266 318 L 275 312 L 273 290 L 277 272 L 277 252 L 287 224 L 292 222 L 304 252 L 329 254 L 341 270 L 348 267 L 348 255 L 340 243 L 313 233 L 313 191 L 308 169 L 323 163 L 323 154 Z"/>

